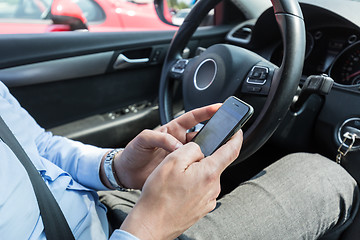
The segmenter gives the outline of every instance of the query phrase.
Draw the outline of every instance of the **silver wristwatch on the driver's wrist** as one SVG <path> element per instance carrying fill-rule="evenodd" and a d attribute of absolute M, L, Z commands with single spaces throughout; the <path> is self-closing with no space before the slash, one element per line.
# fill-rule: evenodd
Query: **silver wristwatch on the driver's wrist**
<path fill-rule="evenodd" d="M 105 175 L 108 178 L 111 186 L 115 188 L 116 190 L 128 192 L 131 189 L 125 188 L 120 184 L 119 179 L 117 178 L 116 172 L 115 172 L 115 166 L 114 166 L 114 159 L 118 152 L 124 150 L 123 148 L 117 148 L 111 150 L 106 156 L 104 161 L 104 170 Z"/>

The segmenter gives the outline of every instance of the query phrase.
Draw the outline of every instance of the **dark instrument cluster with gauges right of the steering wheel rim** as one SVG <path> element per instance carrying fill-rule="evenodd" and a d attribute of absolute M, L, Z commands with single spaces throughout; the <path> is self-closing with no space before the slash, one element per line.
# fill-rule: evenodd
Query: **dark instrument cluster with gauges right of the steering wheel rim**
<path fill-rule="evenodd" d="M 359 36 L 358 31 L 337 27 L 308 31 L 303 74 L 326 73 L 340 85 L 360 84 L 354 75 L 360 70 Z"/>

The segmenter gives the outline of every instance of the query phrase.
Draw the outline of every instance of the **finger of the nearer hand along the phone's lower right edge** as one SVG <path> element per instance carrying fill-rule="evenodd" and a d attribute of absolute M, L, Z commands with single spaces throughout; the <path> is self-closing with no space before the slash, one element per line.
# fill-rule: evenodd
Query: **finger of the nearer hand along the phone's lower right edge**
<path fill-rule="evenodd" d="M 216 150 L 211 156 L 206 158 L 206 161 L 211 162 L 215 166 L 218 173 L 222 173 L 240 153 L 241 145 L 243 141 L 242 130 L 232 136 L 232 138 Z"/>

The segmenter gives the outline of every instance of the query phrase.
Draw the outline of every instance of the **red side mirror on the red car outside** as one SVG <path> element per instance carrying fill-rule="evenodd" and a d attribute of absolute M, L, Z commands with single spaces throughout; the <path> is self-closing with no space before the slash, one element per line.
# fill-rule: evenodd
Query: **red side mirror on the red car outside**
<path fill-rule="evenodd" d="M 50 18 L 54 22 L 50 31 L 87 30 L 87 20 L 80 7 L 72 0 L 54 0 Z"/>

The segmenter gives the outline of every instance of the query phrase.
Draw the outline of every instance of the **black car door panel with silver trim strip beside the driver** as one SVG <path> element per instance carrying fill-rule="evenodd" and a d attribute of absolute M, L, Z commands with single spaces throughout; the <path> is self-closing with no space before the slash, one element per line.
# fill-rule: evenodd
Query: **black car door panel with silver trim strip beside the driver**
<path fill-rule="evenodd" d="M 200 30 L 191 51 L 222 41 L 227 30 Z M 161 64 L 173 34 L 2 35 L 0 80 L 45 129 L 103 147 L 123 146 L 159 124 Z M 131 61 L 118 67 L 121 54 Z M 138 59 L 148 61 L 133 62 Z"/>

